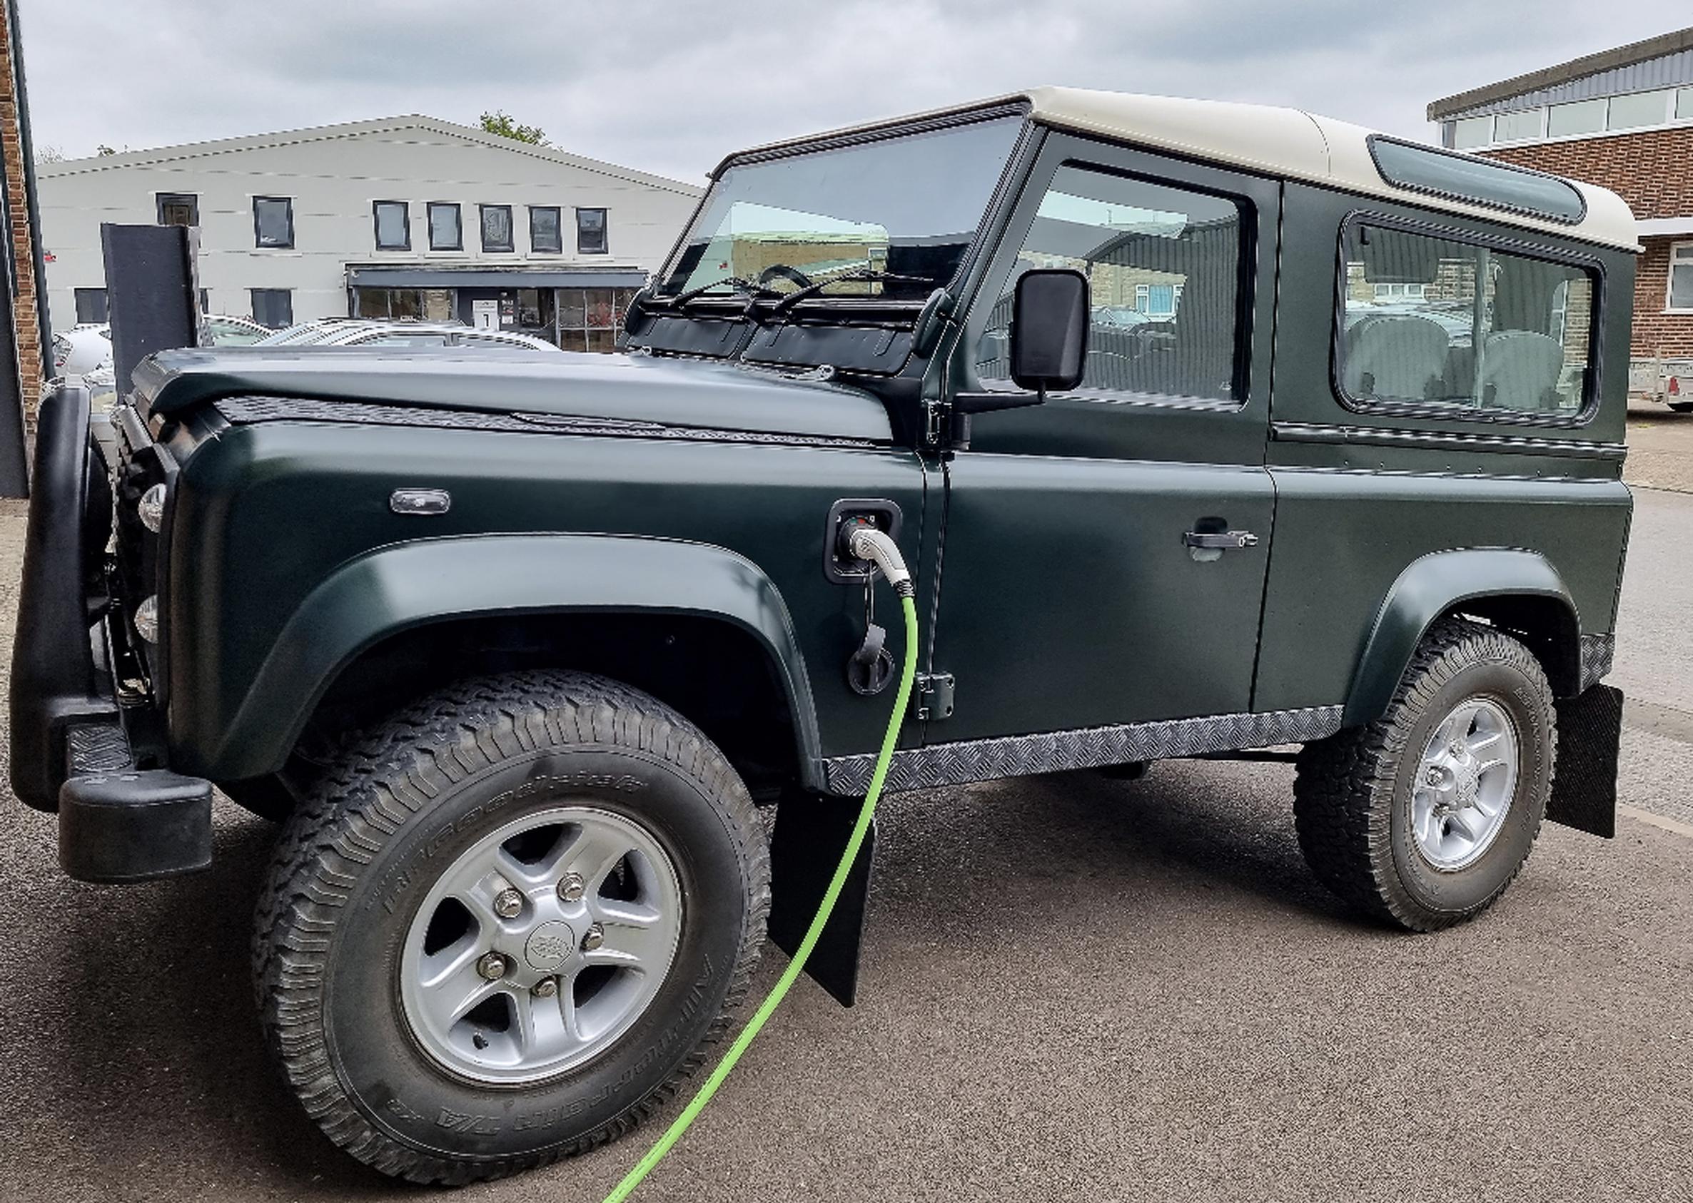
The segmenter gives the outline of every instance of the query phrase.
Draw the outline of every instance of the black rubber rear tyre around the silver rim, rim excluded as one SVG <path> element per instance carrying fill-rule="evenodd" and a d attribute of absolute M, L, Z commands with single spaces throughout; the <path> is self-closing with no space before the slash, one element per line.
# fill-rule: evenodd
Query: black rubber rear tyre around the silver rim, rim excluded
<path fill-rule="evenodd" d="M 1458 870 L 1419 853 L 1412 794 L 1436 728 L 1466 699 L 1508 716 L 1519 753 L 1510 805 L 1486 849 Z M 1358 910 L 1436 931 L 1485 910 L 1534 846 L 1551 792 L 1558 731 L 1552 692 L 1522 643 L 1480 623 L 1442 619 L 1375 722 L 1307 744 L 1293 817 L 1317 878 Z"/>

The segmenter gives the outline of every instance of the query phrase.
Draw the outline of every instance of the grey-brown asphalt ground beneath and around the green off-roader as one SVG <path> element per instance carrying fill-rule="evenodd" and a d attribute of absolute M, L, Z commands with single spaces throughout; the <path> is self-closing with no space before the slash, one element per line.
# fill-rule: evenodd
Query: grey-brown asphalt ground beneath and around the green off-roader
<path fill-rule="evenodd" d="M 1690 492 L 1637 494 L 1615 841 L 1549 826 L 1483 919 L 1407 937 L 1310 878 L 1282 765 L 892 797 L 858 1007 L 796 988 L 637 1198 L 1693 1198 L 1693 420 L 1630 440 Z M 20 547 L 0 511 L 5 662 Z M 262 1056 L 269 824 L 222 804 L 210 871 L 108 888 L 5 805 L 0 1198 L 430 1195 Z M 657 1132 L 457 1198 L 594 1201 Z"/>

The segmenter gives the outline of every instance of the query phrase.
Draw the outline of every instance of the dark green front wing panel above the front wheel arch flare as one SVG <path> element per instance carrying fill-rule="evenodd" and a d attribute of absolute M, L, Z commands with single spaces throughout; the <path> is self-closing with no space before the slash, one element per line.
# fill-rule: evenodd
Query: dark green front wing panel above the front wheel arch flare
<path fill-rule="evenodd" d="M 394 514 L 389 494 L 400 487 L 445 489 L 450 509 Z M 863 591 L 823 575 L 824 523 L 840 497 L 899 504 L 901 545 L 918 563 L 924 469 L 909 452 L 284 421 L 229 428 L 188 460 L 174 501 L 178 536 L 171 541 L 161 636 L 173 763 L 181 756 L 213 778 L 251 775 L 251 765 L 230 773 L 210 763 L 208 750 L 225 746 L 278 640 L 337 569 L 374 548 L 484 535 L 653 536 L 733 553 L 769 580 L 791 614 L 816 707 L 818 755 L 874 748 L 885 714 L 845 680 L 846 660 L 863 636 Z M 547 587 L 535 582 L 550 580 L 560 606 L 603 607 L 623 587 L 611 580 L 618 558 L 604 543 L 532 538 L 499 547 L 511 553 L 477 569 L 454 570 L 442 560 L 411 557 L 384 560 L 374 580 L 398 589 L 410 606 L 432 591 L 472 601 L 481 596 L 483 604 L 488 597 L 540 602 L 537 589 Z M 709 609 L 701 601 L 703 582 L 689 570 L 698 557 L 662 567 L 653 562 L 655 547 L 669 545 L 655 541 L 631 553 L 638 558 L 631 570 L 645 582 L 642 606 L 662 607 L 662 580 L 676 612 Z M 425 562 L 430 575 L 403 589 L 388 575 L 386 565 Z M 488 574 L 476 587 L 447 579 L 472 570 Z M 728 570 L 718 565 L 714 572 Z M 606 579 L 596 585 L 598 599 L 584 584 L 593 579 Z M 738 618 L 730 607 L 731 619 L 767 626 L 750 619 L 742 604 Z M 891 629 L 896 655 L 899 640 Z M 254 704 L 269 707 L 269 722 L 291 726 L 283 712 L 306 699 L 256 697 Z M 797 728 L 808 722 L 796 716 Z"/>

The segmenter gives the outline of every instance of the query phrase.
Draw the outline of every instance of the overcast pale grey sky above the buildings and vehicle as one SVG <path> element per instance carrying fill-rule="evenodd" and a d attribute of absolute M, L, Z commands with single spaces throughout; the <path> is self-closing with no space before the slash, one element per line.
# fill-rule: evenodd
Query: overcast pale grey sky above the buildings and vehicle
<path fill-rule="evenodd" d="M 503 108 L 698 181 L 725 152 L 1036 83 L 1299 105 L 1432 139 L 1427 102 L 1663 34 L 1688 0 L 19 0 L 68 157 Z"/>

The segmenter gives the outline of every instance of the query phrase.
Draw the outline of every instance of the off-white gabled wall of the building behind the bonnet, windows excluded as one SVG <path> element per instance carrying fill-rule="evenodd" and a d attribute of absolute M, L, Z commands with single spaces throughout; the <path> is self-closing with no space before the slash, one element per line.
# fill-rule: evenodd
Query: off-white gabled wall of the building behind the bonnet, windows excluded
<path fill-rule="evenodd" d="M 37 169 L 54 330 L 76 321 L 76 288 L 103 288 L 102 222 L 157 220 L 157 193 L 200 198 L 200 284 L 212 313 L 251 315 L 249 289 L 293 289 L 295 320 L 347 313 L 349 262 L 550 264 L 657 271 L 701 190 L 528 147 L 450 122 L 398 117 Z M 252 198 L 291 196 L 295 247 L 254 245 Z M 372 201 L 410 201 L 411 250 L 378 250 Z M 430 250 L 427 201 L 457 201 L 464 250 Z M 510 254 L 484 254 L 477 205 L 510 205 Z M 564 252 L 528 247 L 528 205 L 564 210 Z M 604 208 L 608 254 L 576 252 L 576 208 Z"/>

